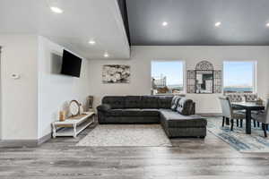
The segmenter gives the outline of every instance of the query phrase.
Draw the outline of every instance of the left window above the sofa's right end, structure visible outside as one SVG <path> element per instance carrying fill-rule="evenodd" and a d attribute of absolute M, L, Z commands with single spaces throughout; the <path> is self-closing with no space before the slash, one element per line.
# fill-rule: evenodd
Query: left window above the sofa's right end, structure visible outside
<path fill-rule="evenodd" d="M 183 63 L 152 62 L 152 94 L 178 94 L 183 91 Z"/>

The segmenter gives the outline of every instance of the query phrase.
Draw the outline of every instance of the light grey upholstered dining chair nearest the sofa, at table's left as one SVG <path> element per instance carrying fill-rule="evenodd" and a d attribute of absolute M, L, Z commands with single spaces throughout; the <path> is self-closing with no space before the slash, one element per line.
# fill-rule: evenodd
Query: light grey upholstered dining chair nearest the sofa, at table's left
<path fill-rule="evenodd" d="M 239 120 L 246 118 L 246 114 L 233 110 L 230 105 L 230 99 L 228 97 L 220 97 L 221 109 L 222 109 L 222 127 L 225 124 L 225 118 L 230 119 L 230 131 L 233 131 L 233 120 L 237 120 L 237 126 L 239 126 Z"/>

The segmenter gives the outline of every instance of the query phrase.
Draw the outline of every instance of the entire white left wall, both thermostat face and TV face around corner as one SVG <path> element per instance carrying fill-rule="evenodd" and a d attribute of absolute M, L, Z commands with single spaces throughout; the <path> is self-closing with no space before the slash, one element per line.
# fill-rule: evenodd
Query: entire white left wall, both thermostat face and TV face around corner
<path fill-rule="evenodd" d="M 1 140 L 40 139 L 51 132 L 51 122 L 68 101 L 84 103 L 90 94 L 89 61 L 82 59 L 81 78 L 56 73 L 64 47 L 47 38 L 2 34 L 0 47 Z M 21 78 L 13 80 L 13 73 Z"/>

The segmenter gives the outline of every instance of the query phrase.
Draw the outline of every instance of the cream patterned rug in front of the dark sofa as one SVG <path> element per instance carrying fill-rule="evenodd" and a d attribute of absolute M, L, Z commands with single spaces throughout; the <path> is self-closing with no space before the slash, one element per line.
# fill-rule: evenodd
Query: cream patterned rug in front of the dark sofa
<path fill-rule="evenodd" d="M 97 125 L 76 146 L 163 147 L 172 146 L 161 124 Z"/>

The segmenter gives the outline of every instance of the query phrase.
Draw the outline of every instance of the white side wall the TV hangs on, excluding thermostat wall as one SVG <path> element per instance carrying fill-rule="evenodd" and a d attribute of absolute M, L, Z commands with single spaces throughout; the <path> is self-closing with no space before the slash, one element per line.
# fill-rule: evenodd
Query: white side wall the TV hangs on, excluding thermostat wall
<path fill-rule="evenodd" d="M 90 95 L 89 61 L 82 59 L 80 78 L 58 74 L 64 47 L 39 37 L 39 138 L 51 132 L 59 110 L 72 99 L 85 103 Z"/>

